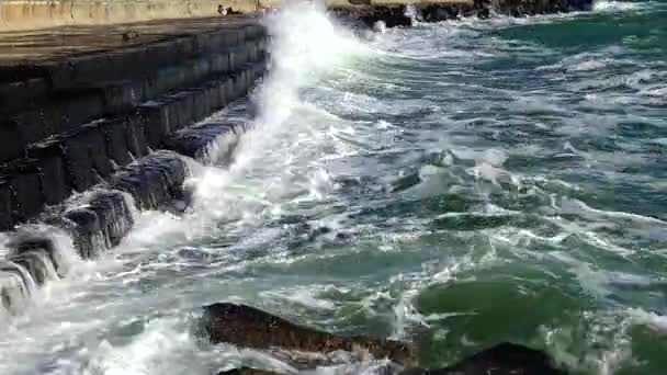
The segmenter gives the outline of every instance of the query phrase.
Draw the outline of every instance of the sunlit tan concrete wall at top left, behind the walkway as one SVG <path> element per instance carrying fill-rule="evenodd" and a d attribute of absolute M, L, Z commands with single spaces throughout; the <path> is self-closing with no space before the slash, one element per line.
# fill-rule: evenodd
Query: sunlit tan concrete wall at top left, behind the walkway
<path fill-rule="evenodd" d="M 0 31 L 71 24 L 108 24 L 158 19 L 215 16 L 218 5 L 242 13 L 263 7 L 258 0 L 0 0 Z"/>

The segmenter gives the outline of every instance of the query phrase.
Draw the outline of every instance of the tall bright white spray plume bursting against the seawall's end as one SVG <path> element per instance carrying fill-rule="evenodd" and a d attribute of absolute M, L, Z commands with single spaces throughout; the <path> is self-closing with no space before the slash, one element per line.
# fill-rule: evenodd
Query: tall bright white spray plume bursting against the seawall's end
<path fill-rule="evenodd" d="M 247 162 L 262 155 L 261 150 L 276 146 L 275 136 L 298 130 L 293 127 L 302 124 L 294 121 L 290 122 L 291 129 L 282 125 L 304 105 L 299 90 L 315 86 L 324 75 L 368 50 L 315 2 L 283 2 L 280 13 L 268 16 L 264 23 L 271 35 L 269 76 L 253 94 L 258 105 L 256 130 L 244 139 L 235 168 L 246 168 Z"/>

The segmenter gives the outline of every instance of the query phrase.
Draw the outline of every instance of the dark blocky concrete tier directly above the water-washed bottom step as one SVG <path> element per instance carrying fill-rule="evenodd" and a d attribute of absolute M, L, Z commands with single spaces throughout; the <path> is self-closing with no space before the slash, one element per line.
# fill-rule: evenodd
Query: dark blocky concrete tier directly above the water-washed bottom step
<path fill-rule="evenodd" d="M 0 167 L 0 230 L 24 223 L 45 206 L 104 182 L 134 159 L 161 148 L 174 132 L 244 96 L 263 73 L 263 63 L 233 75 L 158 96 L 131 114 L 100 118 L 31 144 L 26 157 Z"/>

